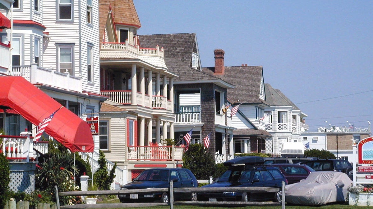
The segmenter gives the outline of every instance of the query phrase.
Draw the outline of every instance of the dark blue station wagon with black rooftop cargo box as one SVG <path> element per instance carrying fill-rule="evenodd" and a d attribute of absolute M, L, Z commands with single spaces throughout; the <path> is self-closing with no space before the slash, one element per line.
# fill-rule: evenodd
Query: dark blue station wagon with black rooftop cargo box
<path fill-rule="evenodd" d="M 276 187 L 281 188 L 286 178 L 274 167 L 263 165 L 261 157 L 241 157 L 224 163 L 230 166 L 214 183 L 203 187 Z M 236 160 L 237 159 L 237 160 Z M 261 161 L 258 161 L 261 160 Z M 261 164 L 261 165 L 258 165 Z M 247 192 L 203 192 L 198 193 L 201 201 L 268 201 L 281 202 L 280 192 L 247 193 Z"/>

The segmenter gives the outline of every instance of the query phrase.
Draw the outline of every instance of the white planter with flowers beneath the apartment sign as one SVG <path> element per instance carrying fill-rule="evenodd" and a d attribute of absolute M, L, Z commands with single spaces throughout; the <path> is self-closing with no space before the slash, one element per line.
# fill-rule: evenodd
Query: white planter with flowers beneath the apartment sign
<path fill-rule="evenodd" d="M 373 206 L 373 187 L 357 184 L 356 186 L 349 186 L 348 204 L 358 206 Z"/>

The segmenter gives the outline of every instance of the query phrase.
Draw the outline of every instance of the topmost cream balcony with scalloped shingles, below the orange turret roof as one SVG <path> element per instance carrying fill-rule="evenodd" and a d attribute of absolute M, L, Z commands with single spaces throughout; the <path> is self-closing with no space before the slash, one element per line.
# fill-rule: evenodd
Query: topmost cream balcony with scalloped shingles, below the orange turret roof
<path fill-rule="evenodd" d="M 125 43 L 103 42 L 100 49 L 100 59 L 139 59 L 157 67 L 167 68 L 164 63 L 163 48 L 141 48 Z"/>

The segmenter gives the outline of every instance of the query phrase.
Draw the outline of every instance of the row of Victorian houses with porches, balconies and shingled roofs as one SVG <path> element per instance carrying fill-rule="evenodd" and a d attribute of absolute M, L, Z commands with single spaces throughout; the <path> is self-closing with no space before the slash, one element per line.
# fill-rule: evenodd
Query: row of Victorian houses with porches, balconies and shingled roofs
<path fill-rule="evenodd" d="M 82 155 L 95 165 L 103 151 L 108 165 L 117 163 L 117 183 L 147 168 L 181 167 L 190 130 L 192 144 L 210 134 L 216 163 L 309 141 L 301 136 L 307 115 L 264 83 L 262 66 L 226 67 L 216 49 L 215 65 L 202 67 L 195 33 L 138 35 L 132 0 L 0 0 L 0 12 L 0 23 L 10 21 L 0 25 L 0 74 L 22 76 L 96 125 L 94 152 Z M 35 124 L 2 112 L 6 135 L 35 135 Z"/>

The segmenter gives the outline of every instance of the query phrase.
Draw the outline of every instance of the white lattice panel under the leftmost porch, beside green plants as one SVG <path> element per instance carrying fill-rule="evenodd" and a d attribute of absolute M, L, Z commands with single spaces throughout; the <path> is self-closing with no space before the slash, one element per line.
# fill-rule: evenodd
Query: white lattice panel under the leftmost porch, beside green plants
<path fill-rule="evenodd" d="M 34 192 L 35 171 L 11 171 L 9 188 L 13 192 Z"/>

